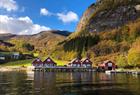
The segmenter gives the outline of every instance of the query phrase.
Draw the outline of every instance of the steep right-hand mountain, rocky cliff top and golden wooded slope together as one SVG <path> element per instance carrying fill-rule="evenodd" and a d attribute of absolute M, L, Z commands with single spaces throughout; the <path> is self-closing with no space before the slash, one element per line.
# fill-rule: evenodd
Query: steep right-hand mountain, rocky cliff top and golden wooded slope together
<path fill-rule="evenodd" d="M 52 56 L 71 60 L 90 54 L 95 63 L 109 59 L 130 66 L 140 59 L 139 26 L 140 0 L 98 0 L 88 7 L 75 32 L 57 45 Z"/>

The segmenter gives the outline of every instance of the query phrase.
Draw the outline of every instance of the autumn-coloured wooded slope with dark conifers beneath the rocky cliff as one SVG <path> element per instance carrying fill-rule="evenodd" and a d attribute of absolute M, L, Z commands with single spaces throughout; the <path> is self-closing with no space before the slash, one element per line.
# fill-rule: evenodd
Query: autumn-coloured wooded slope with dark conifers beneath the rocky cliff
<path fill-rule="evenodd" d="M 107 59 L 117 62 L 118 56 L 125 56 L 125 66 L 129 66 L 131 61 L 134 61 L 131 57 L 140 57 L 139 26 L 140 20 L 138 19 L 111 31 L 86 32 L 85 35 L 80 34 L 79 36 L 75 32 L 59 43 L 52 55 L 61 60 L 70 60 L 77 56 L 85 57 L 87 53 L 90 53 L 95 63 Z M 134 56 L 130 56 L 131 53 Z M 139 62 L 139 58 L 136 60 Z"/>

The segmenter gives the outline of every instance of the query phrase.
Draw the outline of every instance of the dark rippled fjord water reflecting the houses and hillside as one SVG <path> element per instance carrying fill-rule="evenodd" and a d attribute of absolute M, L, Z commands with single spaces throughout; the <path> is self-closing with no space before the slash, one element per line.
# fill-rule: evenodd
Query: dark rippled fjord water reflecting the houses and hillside
<path fill-rule="evenodd" d="M 95 72 L 0 72 L 0 95 L 140 95 L 140 76 Z"/>

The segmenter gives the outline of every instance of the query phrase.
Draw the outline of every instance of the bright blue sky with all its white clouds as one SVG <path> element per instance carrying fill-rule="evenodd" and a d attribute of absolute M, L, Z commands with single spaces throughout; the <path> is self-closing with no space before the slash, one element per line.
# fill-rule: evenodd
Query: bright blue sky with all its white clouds
<path fill-rule="evenodd" d="M 1 0 L 0 33 L 35 34 L 42 30 L 73 32 L 95 0 Z"/>

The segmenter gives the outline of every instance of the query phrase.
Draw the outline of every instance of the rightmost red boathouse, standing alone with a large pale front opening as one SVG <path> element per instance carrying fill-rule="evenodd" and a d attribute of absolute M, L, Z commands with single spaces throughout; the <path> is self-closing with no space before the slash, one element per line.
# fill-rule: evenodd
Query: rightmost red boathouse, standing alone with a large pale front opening
<path fill-rule="evenodd" d="M 115 70 L 116 67 L 117 66 L 115 65 L 114 62 L 112 62 L 110 60 L 106 60 L 102 64 L 99 64 L 98 69 L 100 69 L 100 70 Z"/>

